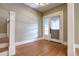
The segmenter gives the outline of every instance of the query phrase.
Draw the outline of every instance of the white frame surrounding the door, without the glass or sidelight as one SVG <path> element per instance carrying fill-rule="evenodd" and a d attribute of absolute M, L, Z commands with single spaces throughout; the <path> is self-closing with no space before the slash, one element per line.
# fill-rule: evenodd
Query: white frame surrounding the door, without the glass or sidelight
<path fill-rule="evenodd" d="M 58 41 L 58 40 L 53 40 L 53 39 L 51 39 L 51 35 L 50 35 L 50 20 L 51 20 L 51 17 L 52 16 L 57 16 L 57 15 L 59 15 L 60 16 L 60 24 L 61 24 L 61 26 L 60 26 L 60 33 L 59 33 L 59 40 L 60 41 Z M 49 15 L 46 15 L 47 17 L 48 17 L 48 20 L 49 20 L 49 22 L 48 22 L 48 24 L 49 24 L 49 30 L 48 30 L 48 40 L 51 40 L 51 41 L 55 41 L 55 42 L 59 42 L 59 43 L 64 43 L 64 40 L 63 40 L 63 10 L 61 10 L 61 11 L 57 11 L 57 12 L 54 12 L 54 13 L 51 13 L 51 14 L 49 14 Z M 45 16 L 44 16 L 45 17 Z M 43 37 L 44 37 L 44 34 L 43 34 Z"/>

